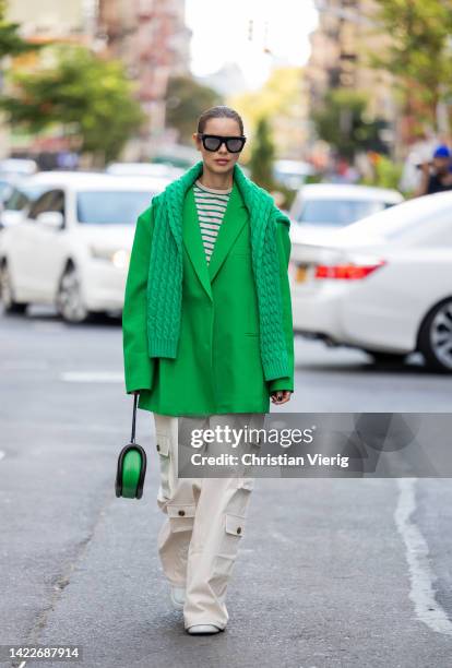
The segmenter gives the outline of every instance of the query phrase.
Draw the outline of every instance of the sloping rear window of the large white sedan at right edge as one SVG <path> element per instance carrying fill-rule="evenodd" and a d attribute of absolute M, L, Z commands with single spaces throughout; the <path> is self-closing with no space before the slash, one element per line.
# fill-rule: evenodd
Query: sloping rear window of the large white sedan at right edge
<path fill-rule="evenodd" d="M 373 214 L 337 231 L 342 240 L 383 237 L 403 238 L 420 225 L 433 223 L 442 216 L 452 217 L 452 198 L 442 194 L 426 195 L 402 202 L 386 211 Z"/>

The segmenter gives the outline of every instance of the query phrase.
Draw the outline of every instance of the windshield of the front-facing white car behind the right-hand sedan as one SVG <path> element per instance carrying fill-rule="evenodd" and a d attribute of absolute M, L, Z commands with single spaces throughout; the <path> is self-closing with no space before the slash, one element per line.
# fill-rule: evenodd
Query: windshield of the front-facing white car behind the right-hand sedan
<path fill-rule="evenodd" d="M 309 225 L 349 225 L 365 216 L 391 206 L 379 200 L 318 199 L 306 200 L 298 223 Z"/>

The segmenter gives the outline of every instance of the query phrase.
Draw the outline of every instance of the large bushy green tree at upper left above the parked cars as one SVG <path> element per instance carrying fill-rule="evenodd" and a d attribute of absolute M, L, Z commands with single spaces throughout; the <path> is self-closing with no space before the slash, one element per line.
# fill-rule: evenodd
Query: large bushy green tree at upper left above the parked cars
<path fill-rule="evenodd" d="M 0 100 L 9 121 L 31 132 L 58 124 L 79 138 L 80 150 L 99 162 L 115 159 L 144 115 L 123 64 L 84 47 L 58 46 L 55 64 L 12 75 L 14 92 Z"/>

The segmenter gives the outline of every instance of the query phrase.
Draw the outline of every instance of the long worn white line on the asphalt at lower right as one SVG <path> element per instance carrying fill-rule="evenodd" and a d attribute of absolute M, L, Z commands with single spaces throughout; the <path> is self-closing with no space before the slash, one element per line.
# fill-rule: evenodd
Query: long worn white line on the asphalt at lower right
<path fill-rule="evenodd" d="M 397 478 L 399 502 L 394 511 L 396 527 L 405 542 L 411 592 L 415 611 L 420 621 L 437 633 L 452 635 L 452 622 L 443 607 L 435 598 L 437 580 L 429 561 L 429 548 L 418 526 L 411 521 L 416 510 L 417 478 Z"/>

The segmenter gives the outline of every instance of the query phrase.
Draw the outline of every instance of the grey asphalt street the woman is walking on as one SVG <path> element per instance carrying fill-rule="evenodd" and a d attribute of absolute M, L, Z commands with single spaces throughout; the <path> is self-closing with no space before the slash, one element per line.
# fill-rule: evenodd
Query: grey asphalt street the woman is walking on
<path fill-rule="evenodd" d="M 0 644 L 79 644 L 86 668 L 450 668 L 449 479 L 259 479 L 225 633 L 191 637 L 155 537 L 156 462 L 116 499 L 132 399 L 118 322 L 0 315 Z M 290 411 L 450 411 L 451 381 L 297 341 Z M 136 440 L 153 453 L 153 417 Z M 0 664 L 8 666 L 9 664 Z M 16 664 L 19 665 L 19 664 Z M 31 666 L 61 663 L 27 660 Z"/>

